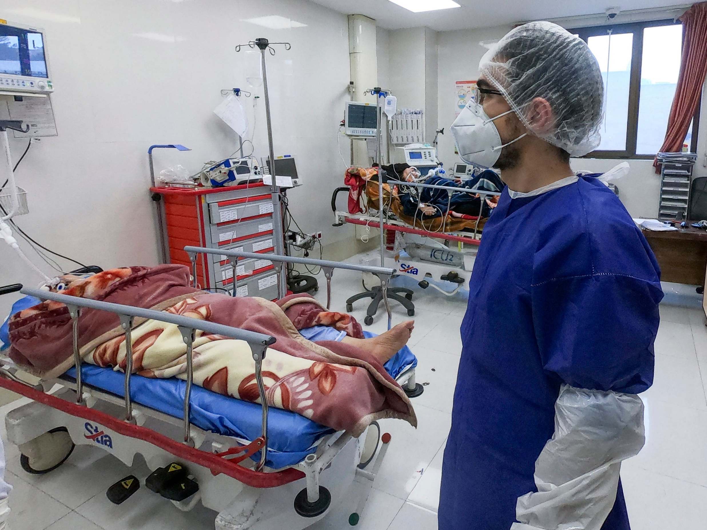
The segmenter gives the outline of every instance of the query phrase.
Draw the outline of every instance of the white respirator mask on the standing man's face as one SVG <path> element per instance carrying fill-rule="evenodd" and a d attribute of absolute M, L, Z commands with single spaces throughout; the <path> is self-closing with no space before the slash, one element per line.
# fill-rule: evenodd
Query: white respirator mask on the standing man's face
<path fill-rule="evenodd" d="M 486 169 L 493 167 L 498 161 L 498 157 L 501 156 L 501 149 L 510 146 L 511 143 L 520 140 L 523 136 L 527 136 L 527 133 L 523 133 L 508 143 L 501 141 L 501 135 L 498 134 L 493 120 L 511 112 L 513 110 L 489 118 L 484 112 L 484 107 L 479 103 L 475 101 L 467 103 L 467 106 L 450 127 L 460 158 L 467 164 Z"/>

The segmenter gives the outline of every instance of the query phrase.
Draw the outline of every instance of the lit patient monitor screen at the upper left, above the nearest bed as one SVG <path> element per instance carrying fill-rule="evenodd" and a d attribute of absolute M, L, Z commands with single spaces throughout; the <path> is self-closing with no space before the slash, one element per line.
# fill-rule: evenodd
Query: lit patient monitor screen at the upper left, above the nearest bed
<path fill-rule="evenodd" d="M 36 30 L 0 24 L 0 74 L 47 77 L 44 38 Z"/>

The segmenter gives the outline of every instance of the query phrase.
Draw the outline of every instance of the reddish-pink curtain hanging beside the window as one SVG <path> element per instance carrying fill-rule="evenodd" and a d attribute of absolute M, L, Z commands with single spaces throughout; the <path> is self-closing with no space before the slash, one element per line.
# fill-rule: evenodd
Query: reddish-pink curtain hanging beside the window
<path fill-rule="evenodd" d="M 682 61 L 661 153 L 682 150 L 707 76 L 707 2 L 694 4 L 679 20 L 682 22 Z M 660 173 L 658 158 L 653 166 L 655 172 Z"/>

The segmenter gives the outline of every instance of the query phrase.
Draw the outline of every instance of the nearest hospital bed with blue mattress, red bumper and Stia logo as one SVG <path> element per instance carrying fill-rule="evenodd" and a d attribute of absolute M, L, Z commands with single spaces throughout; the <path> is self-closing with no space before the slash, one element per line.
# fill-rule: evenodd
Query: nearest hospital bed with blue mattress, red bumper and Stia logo
<path fill-rule="evenodd" d="M 226 254 L 234 266 L 239 259 L 250 257 L 245 252 L 201 247 L 187 247 L 185 251 L 192 264 L 201 252 Z M 335 261 L 284 256 L 269 259 L 277 264 L 276 269 L 284 263 L 322 266 L 328 302 L 334 269 L 373 273 L 380 278 L 382 288 L 393 273 L 391 269 Z M 148 488 L 184 511 L 201 501 L 218 512 L 217 530 L 303 529 L 325 517 L 332 503 L 343 502 L 354 478 L 370 483 L 375 479 L 391 439 L 388 434 L 380 436 L 377 423 L 354 438 L 296 413 L 269 408 L 264 399 L 262 361 L 274 337 L 141 307 L 30 288 L 21 288 L 20 292 L 66 305 L 71 316 L 75 364 L 58 379 L 31 384 L 22 379 L 11 360 L 0 359 L 0 386 L 32 400 L 6 416 L 8 440 L 20 448 L 26 471 L 45 473 L 57 468 L 75 445 L 98 447 L 128 466 L 141 454 L 153 471 L 145 482 Z M 119 316 L 128 348 L 124 374 L 81 365 L 78 322 L 84 308 Z M 178 326 L 187 346 L 186 381 L 131 374 L 130 336 L 136 318 Z M 197 329 L 247 341 L 262 405 L 192 388 L 192 343 Z M 415 366 L 414 355 L 399 353 L 385 367 L 408 388 L 416 386 Z M 379 441 L 382 444 L 376 456 Z M 160 477 L 172 471 L 183 476 L 181 490 L 160 490 Z M 111 488 L 128 490 L 136 482 L 139 484 L 140 479 L 129 476 Z M 350 524 L 358 522 L 369 490 L 366 488 L 359 499 Z"/>

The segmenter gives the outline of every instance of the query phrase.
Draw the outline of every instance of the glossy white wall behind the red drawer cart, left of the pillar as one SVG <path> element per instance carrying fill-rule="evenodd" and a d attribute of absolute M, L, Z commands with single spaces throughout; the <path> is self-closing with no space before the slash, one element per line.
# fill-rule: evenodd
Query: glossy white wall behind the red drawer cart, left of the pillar
<path fill-rule="evenodd" d="M 292 44 L 267 56 L 275 151 L 297 155 L 304 182 L 288 194 L 291 209 L 303 230 L 322 230 L 325 243 L 353 234 L 331 227 L 328 206 L 343 175 L 337 126 L 348 98 L 345 15 L 302 0 L 4 0 L 0 11 L 47 35 L 59 136 L 35 143 L 17 172 L 30 201 L 30 215 L 17 223 L 39 242 L 104 268 L 156 264 L 147 148 L 193 150 L 156 151 L 157 172 L 176 163 L 196 172 L 235 150 L 235 135 L 212 110 L 222 88 L 247 89 L 248 61 L 257 57 L 234 47 L 256 37 Z M 269 15 L 306 26 L 271 30 L 244 21 Z M 261 157 L 262 87 L 252 92 L 261 96 L 254 140 Z M 25 144 L 11 141 L 14 158 Z M 0 247 L 0 285 L 37 281 Z M 0 314 L 11 301 L 3 298 Z"/>

